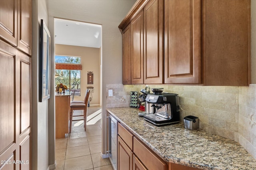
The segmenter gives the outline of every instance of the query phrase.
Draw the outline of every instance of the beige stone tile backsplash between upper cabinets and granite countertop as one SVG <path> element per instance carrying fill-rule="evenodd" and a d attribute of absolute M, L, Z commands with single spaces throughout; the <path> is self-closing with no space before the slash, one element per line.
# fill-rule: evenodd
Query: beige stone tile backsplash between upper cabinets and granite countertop
<path fill-rule="evenodd" d="M 180 123 L 187 115 L 199 117 L 199 128 L 239 142 L 256 158 L 256 84 L 247 86 L 150 85 L 176 93 L 180 98 Z M 106 107 L 128 107 L 130 91 L 145 85 L 107 84 Z"/>

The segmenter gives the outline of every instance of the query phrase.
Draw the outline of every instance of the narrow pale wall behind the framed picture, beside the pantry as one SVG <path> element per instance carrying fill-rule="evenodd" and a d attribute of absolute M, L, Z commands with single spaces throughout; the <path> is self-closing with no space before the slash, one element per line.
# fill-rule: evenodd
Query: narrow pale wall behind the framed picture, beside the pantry
<path fill-rule="evenodd" d="M 39 102 L 40 20 L 48 22 L 48 0 L 32 0 L 32 169 L 48 169 L 48 101 Z"/>

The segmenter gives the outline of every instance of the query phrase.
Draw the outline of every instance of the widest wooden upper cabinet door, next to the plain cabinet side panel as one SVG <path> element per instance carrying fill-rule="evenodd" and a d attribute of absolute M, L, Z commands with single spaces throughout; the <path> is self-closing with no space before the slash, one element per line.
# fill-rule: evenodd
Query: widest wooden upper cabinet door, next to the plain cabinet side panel
<path fill-rule="evenodd" d="M 164 1 L 164 82 L 200 84 L 201 0 Z"/>

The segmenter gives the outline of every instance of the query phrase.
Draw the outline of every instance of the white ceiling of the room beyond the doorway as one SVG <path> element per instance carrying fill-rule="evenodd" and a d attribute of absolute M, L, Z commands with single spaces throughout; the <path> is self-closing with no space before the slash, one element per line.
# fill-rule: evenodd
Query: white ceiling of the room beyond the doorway
<path fill-rule="evenodd" d="M 101 47 L 101 25 L 54 18 L 55 44 Z"/>

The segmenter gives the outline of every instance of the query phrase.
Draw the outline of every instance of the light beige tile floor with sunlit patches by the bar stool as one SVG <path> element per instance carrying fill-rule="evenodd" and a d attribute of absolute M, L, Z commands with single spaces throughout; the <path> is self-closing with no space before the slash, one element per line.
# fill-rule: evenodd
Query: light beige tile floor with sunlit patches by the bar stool
<path fill-rule="evenodd" d="M 76 114 L 80 113 L 76 110 Z M 102 123 L 101 119 L 92 121 L 95 117 L 99 116 L 88 120 L 86 131 L 83 123 L 73 121 L 68 137 L 56 139 L 56 170 L 113 170 L 110 160 L 100 157 Z"/>

